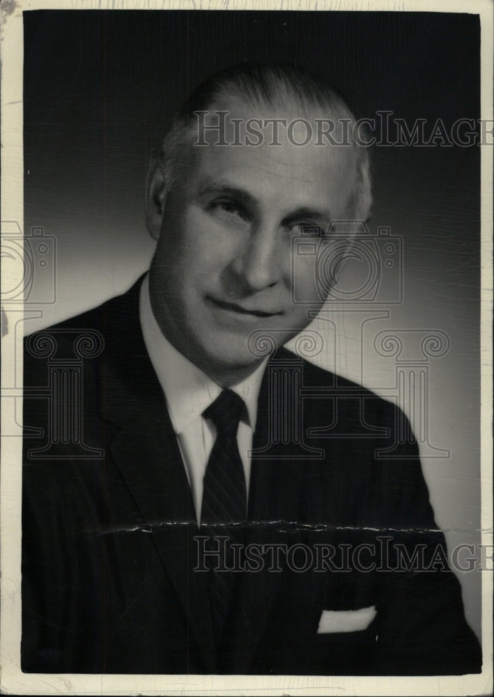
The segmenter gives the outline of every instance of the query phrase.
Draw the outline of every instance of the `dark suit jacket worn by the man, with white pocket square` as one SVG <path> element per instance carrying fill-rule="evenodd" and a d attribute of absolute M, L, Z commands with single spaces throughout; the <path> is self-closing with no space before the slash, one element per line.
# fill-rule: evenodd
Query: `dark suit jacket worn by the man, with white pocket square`
<path fill-rule="evenodd" d="M 479 672 L 460 585 L 440 561 L 445 541 L 417 445 L 406 438 L 394 459 L 376 457 L 403 415 L 284 349 L 258 401 L 245 544 L 286 545 L 278 549 L 288 555 L 238 573 L 226 643 L 215 650 L 208 574 L 194 572 L 194 506 L 138 298 L 136 284 L 27 342 L 23 670 Z M 273 437 L 273 396 L 300 412 L 292 442 Z M 396 570 L 399 544 L 435 565 Z M 323 610 L 369 606 L 377 614 L 366 629 L 317 633 Z"/>

